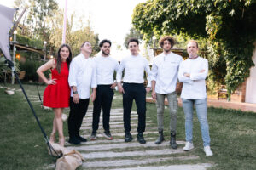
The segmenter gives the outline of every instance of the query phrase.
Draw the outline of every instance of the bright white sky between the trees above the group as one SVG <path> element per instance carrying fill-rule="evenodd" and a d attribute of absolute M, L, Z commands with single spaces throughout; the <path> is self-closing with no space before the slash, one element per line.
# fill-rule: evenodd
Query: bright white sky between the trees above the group
<path fill-rule="evenodd" d="M 56 1 L 60 8 L 64 8 L 65 0 Z M 146 0 L 67 0 L 67 17 L 75 12 L 78 18 L 84 16 L 84 24 L 90 17 L 91 27 L 100 40 L 107 38 L 123 45 L 125 35 L 132 27 L 133 8 L 143 2 Z M 14 0 L 0 0 L 0 4 L 12 8 Z"/>

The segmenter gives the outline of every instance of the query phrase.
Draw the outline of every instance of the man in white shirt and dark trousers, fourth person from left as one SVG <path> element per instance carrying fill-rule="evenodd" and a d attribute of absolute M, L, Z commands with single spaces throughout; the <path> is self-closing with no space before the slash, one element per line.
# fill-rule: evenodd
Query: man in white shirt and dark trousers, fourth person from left
<path fill-rule="evenodd" d="M 146 140 L 143 133 L 146 127 L 146 93 L 151 88 L 150 68 L 148 60 L 138 53 L 139 43 L 137 38 L 131 38 L 128 41 L 128 48 L 131 55 L 122 59 L 117 73 L 117 82 L 119 92 L 123 94 L 124 107 L 124 127 L 125 127 L 125 142 L 131 142 L 131 107 L 133 100 L 137 105 L 137 141 L 140 144 L 145 144 Z M 125 70 L 123 78 L 123 86 L 121 84 L 122 72 Z M 144 71 L 148 73 L 148 85 L 144 87 Z"/>

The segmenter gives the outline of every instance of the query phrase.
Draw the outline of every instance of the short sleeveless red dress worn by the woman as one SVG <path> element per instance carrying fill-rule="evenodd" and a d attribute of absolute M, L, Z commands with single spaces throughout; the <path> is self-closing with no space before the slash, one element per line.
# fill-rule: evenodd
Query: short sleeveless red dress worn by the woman
<path fill-rule="evenodd" d="M 61 63 L 61 73 L 56 68 L 51 70 L 52 79 L 56 84 L 48 85 L 44 90 L 43 105 L 51 108 L 69 107 L 70 87 L 68 85 L 68 66 Z"/>

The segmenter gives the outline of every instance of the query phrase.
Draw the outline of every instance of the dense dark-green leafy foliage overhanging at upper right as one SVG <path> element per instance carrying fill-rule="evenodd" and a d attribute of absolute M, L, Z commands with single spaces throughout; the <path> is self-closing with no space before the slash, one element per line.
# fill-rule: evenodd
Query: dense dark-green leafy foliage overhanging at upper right
<path fill-rule="evenodd" d="M 255 0 L 148 0 L 134 9 L 132 24 L 148 40 L 162 34 L 206 39 L 210 68 L 225 61 L 221 76 L 231 94 L 254 65 L 255 8 Z"/>

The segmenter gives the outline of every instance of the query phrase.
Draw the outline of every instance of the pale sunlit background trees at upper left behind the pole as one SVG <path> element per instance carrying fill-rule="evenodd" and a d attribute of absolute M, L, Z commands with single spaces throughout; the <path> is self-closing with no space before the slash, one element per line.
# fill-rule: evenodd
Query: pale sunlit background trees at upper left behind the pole
<path fill-rule="evenodd" d="M 18 34 L 23 37 L 41 40 L 47 42 L 47 49 L 50 54 L 55 54 L 61 46 L 63 10 L 58 7 L 55 0 L 15 0 L 15 6 L 18 8 L 28 7 L 19 26 Z M 20 12 L 20 11 L 19 11 Z M 98 35 L 92 31 L 90 20 L 84 20 L 84 16 L 79 20 L 79 29 L 74 30 L 73 19 L 75 14 L 67 19 L 66 42 L 71 46 L 73 55 L 79 54 L 80 45 L 86 40 L 93 46 L 93 53 L 99 51 Z M 26 38 L 23 40 L 26 40 Z M 28 42 L 22 42 L 27 44 Z"/>

